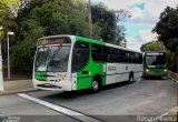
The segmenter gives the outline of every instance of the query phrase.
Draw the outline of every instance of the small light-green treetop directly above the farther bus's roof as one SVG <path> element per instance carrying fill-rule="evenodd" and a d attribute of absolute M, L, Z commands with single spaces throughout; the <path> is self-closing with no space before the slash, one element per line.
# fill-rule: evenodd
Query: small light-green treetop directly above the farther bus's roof
<path fill-rule="evenodd" d="M 140 50 L 145 51 L 162 51 L 165 50 L 165 45 L 160 41 L 151 41 L 141 45 Z"/>

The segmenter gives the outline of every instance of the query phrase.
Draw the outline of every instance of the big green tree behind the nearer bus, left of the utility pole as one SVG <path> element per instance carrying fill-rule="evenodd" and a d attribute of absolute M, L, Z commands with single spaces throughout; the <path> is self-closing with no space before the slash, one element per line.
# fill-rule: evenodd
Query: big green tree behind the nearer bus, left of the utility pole
<path fill-rule="evenodd" d="M 14 68 L 31 71 L 30 47 L 36 45 L 38 38 L 53 34 L 89 37 L 88 17 L 78 8 L 80 6 L 71 0 L 31 0 L 26 3 L 16 19 L 16 43 L 11 48 Z M 93 38 L 100 39 L 100 27 L 97 23 L 92 27 Z"/>

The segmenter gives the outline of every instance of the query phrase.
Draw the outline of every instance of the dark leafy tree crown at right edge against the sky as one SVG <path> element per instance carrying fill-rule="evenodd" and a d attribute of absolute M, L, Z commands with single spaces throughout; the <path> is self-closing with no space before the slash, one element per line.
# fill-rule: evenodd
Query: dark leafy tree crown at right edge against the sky
<path fill-rule="evenodd" d="M 178 47 L 178 7 L 176 9 L 167 7 L 160 14 L 154 31 L 159 34 L 164 44 L 175 52 Z"/>

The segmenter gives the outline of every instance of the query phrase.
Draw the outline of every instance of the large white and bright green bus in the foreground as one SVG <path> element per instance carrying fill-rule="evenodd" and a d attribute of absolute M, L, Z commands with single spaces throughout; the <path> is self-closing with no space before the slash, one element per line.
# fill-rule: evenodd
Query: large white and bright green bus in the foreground
<path fill-rule="evenodd" d="M 50 35 L 38 40 L 33 87 L 73 91 L 121 81 L 134 82 L 142 73 L 142 53 L 78 35 Z"/>

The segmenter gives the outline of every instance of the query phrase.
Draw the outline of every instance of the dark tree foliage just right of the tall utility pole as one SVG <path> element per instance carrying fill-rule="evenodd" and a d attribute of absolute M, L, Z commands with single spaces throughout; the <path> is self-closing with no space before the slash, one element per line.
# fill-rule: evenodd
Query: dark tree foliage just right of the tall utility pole
<path fill-rule="evenodd" d="M 97 22 L 99 27 L 102 27 L 100 37 L 105 42 L 117 44 L 118 40 L 123 39 L 121 28 L 117 27 L 115 11 L 107 10 L 107 7 L 100 3 L 92 6 L 91 12 L 92 22 Z"/>

